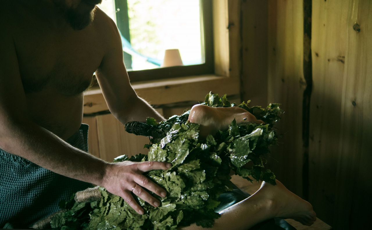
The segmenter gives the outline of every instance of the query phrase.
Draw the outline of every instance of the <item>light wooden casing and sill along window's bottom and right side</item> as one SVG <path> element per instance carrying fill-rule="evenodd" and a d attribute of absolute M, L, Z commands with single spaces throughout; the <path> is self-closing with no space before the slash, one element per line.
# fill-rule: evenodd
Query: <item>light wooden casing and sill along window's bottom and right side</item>
<path fill-rule="evenodd" d="M 137 94 L 154 106 L 202 101 L 209 91 L 239 96 L 241 86 L 240 1 L 213 1 L 214 74 L 132 82 Z M 192 92 L 192 93 L 191 93 Z M 240 101 L 237 100 L 237 101 Z M 99 85 L 84 92 L 84 115 L 108 111 Z"/>

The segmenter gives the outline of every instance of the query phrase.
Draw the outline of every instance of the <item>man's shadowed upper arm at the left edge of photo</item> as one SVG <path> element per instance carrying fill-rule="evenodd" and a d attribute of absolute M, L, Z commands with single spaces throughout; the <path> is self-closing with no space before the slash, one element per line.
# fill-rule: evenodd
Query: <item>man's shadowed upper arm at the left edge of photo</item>
<path fill-rule="evenodd" d="M 0 16 L 0 133 L 13 121 L 27 118 L 26 97 L 20 77 L 11 26 Z M 6 25 L 7 24 L 7 25 Z M 3 133 L 1 133 L 3 134 Z"/>

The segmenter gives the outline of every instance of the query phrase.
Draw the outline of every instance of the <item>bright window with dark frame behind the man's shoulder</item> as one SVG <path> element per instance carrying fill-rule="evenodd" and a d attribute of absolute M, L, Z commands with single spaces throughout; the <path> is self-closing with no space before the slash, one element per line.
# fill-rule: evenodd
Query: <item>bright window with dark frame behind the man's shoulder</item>
<path fill-rule="evenodd" d="M 99 7 L 121 32 L 131 81 L 214 72 L 211 0 L 105 0 Z"/>

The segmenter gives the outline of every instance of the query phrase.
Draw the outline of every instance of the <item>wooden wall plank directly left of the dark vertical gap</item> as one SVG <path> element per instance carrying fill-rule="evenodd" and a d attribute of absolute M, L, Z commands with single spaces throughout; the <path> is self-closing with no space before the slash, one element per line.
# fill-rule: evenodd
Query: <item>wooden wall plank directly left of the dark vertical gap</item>
<path fill-rule="evenodd" d="M 292 192 L 302 196 L 302 1 L 269 1 L 268 101 L 281 103 L 285 111 L 276 125 L 283 134 L 272 148 L 268 167 Z"/>

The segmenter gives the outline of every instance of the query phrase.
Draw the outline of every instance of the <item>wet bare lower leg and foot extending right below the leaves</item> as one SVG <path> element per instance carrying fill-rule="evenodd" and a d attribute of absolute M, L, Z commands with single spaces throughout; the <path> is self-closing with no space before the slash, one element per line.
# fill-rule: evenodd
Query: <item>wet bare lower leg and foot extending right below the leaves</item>
<path fill-rule="evenodd" d="M 316 220 L 312 206 L 289 191 L 282 183 L 277 185 L 262 182 L 260 189 L 247 199 L 220 212 L 213 229 L 248 229 L 271 218 L 291 218 L 310 226 Z M 193 224 L 183 230 L 198 230 Z"/>

